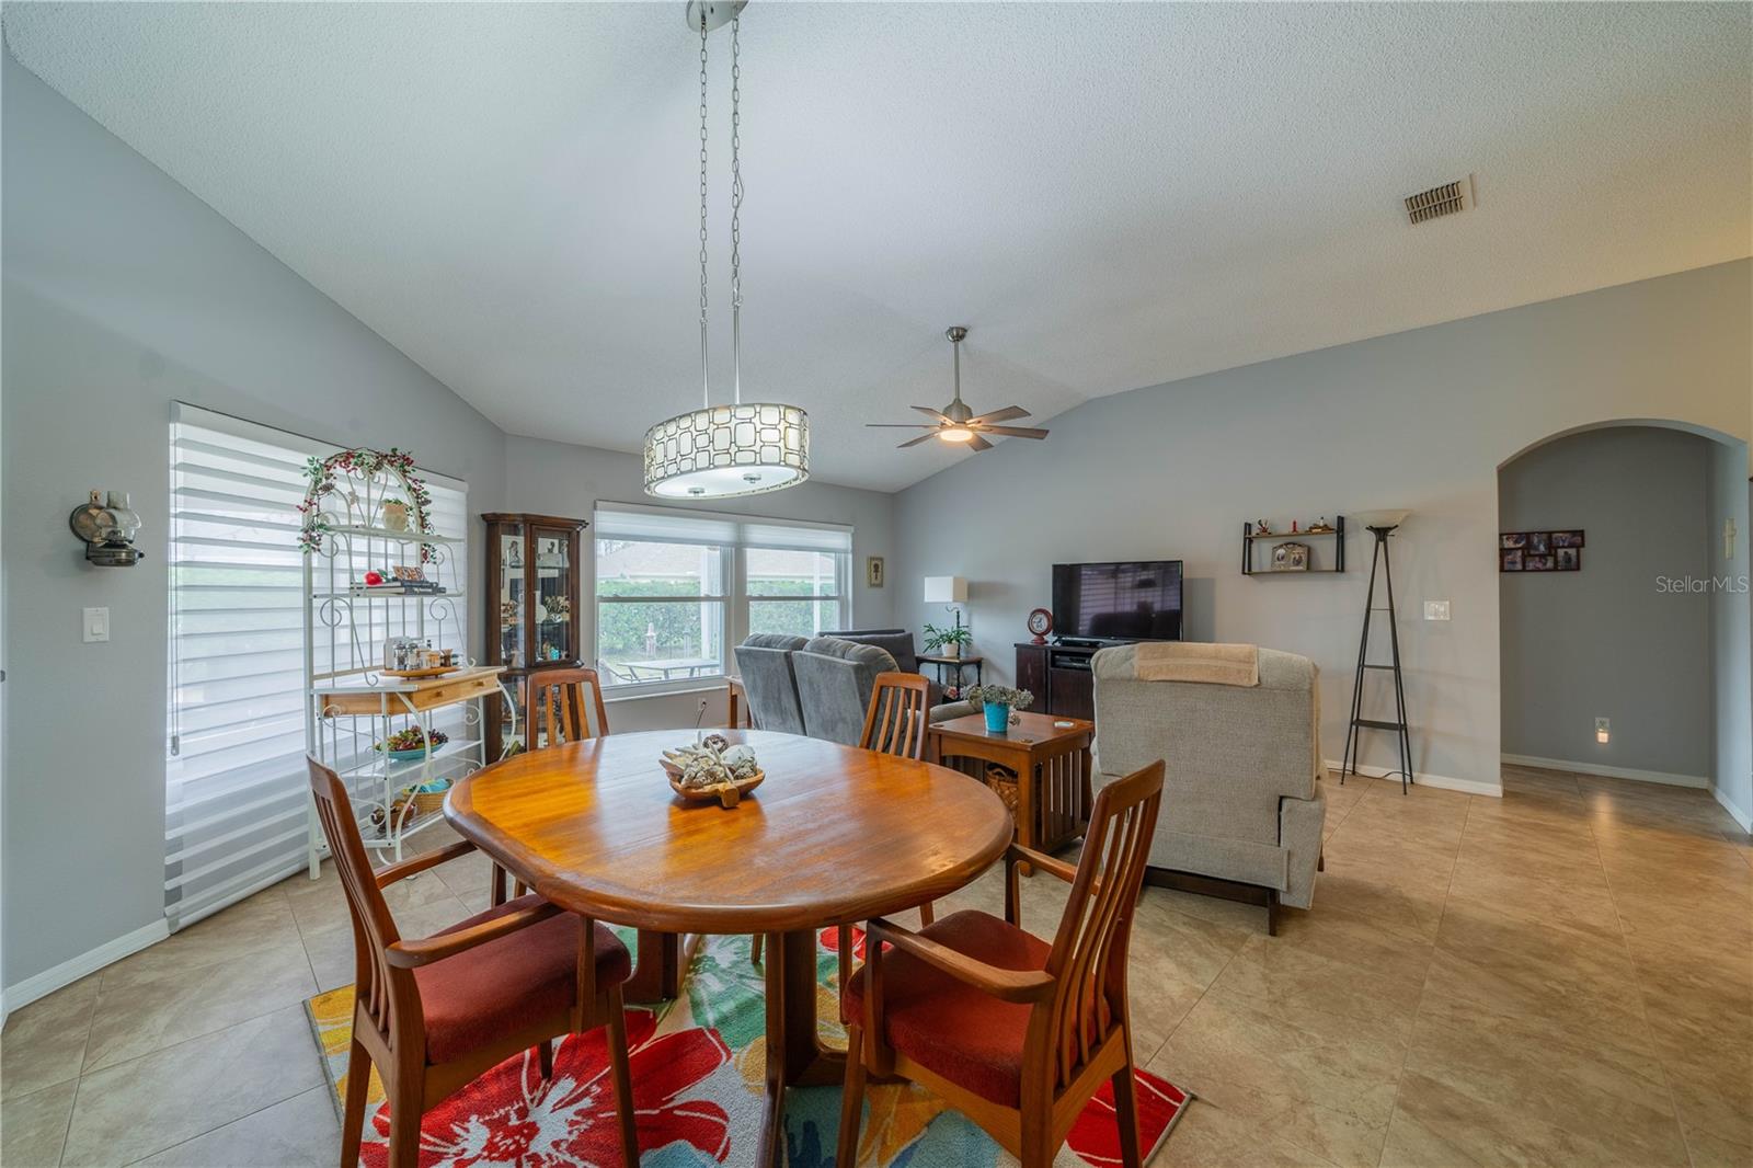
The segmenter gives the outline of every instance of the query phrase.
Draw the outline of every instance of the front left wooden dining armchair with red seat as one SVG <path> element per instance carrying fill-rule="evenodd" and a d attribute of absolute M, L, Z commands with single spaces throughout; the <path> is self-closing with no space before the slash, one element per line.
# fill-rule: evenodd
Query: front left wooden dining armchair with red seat
<path fill-rule="evenodd" d="M 372 868 L 347 789 L 314 758 L 310 791 L 352 915 L 354 1007 L 342 1168 L 358 1168 L 365 1096 L 377 1066 L 389 1096 L 389 1164 L 419 1161 L 421 1117 L 484 1072 L 531 1047 L 554 1073 L 554 1038 L 608 1026 L 621 1154 L 638 1163 L 621 984 L 626 945 L 605 926 L 519 896 L 421 940 L 405 940 L 384 889 L 475 849 L 461 840 Z"/>

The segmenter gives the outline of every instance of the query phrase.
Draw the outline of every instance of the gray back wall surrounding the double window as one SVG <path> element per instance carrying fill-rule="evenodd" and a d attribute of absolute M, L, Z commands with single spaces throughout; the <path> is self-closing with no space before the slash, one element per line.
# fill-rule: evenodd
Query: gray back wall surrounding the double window
<path fill-rule="evenodd" d="M 505 440 L 507 510 L 589 519 L 598 502 L 650 505 L 645 496 L 643 463 L 636 454 L 601 451 L 540 438 Z M 745 500 L 699 503 L 699 510 L 726 510 L 775 519 L 813 519 L 852 524 L 852 617 L 859 626 L 884 626 L 894 619 L 894 586 L 866 588 L 864 558 L 884 556 L 894 563 L 894 496 L 880 491 L 806 482 L 775 495 Z M 593 540 L 586 540 L 587 572 L 594 575 Z M 586 644 L 596 644 L 596 612 L 584 610 Z M 610 703 L 608 723 L 615 730 L 656 730 L 692 726 L 699 717 L 699 698 L 708 707 L 705 724 L 724 724 L 724 687 L 706 686 L 703 694 L 666 694 L 624 698 Z"/>

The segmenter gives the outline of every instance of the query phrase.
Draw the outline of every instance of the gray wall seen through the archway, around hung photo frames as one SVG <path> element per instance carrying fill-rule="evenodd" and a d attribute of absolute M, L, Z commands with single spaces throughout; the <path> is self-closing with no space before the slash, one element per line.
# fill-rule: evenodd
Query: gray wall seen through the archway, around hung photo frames
<path fill-rule="evenodd" d="M 1504 754 L 1707 782 L 1711 596 L 1658 579 L 1709 570 L 1711 447 L 1611 426 L 1536 447 L 1497 477 L 1504 531 L 1583 528 L 1581 572 L 1499 577 Z M 1595 717 L 1613 740 L 1595 742 Z"/>

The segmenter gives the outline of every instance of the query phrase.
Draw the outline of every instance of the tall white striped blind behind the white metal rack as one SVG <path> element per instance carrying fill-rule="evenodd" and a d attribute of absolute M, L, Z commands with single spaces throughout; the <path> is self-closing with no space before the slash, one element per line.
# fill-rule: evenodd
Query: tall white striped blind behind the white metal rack
<path fill-rule="evenodd" d="M 305 459 L 338 447 L 189 405 L 170 423 L 170 752 L 165 914 L 189 924 L 305 863 Z M 466 484 L 421 472 L 433 524 Z M 465 544 L 449 549 L 466 580 Z M 442 647 L 465 649 L 465 596 Z M 321 644 L 321 640 L 317 642 Z M 312 663 L 317 670 L 326 661 Z"/>

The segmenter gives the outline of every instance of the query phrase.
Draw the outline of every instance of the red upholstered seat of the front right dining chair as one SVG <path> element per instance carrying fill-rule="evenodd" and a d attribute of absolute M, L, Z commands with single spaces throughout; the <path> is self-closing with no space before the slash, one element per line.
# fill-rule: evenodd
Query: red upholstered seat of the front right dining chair
<path fill-rule="evenodd" d="M 1052 945 L 999 917 L 955 912 L 919 931 L 1003 970 L 1045 970 Z M 920 1066 L 1004 1107 L 1022 1105 L 1026 1003 L 999 1001 L 891 949 L 882 958 L 884 1036 Z M 847 986 L 847 1017 L 864 1014 L 864 975 Z"/>

